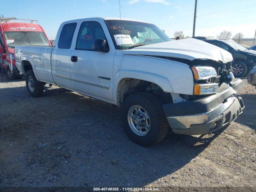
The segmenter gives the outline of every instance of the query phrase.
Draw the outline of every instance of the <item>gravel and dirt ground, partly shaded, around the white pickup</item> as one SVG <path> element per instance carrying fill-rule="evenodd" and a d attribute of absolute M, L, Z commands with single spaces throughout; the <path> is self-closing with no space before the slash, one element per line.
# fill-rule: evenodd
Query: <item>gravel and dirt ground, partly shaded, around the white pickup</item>
<path fill-rule="evenodd" d="M 244 81 L 244 113 L 226 129 L 131 142 L 120 108 L 52 86 L 28 95 L 0 72 L 0 187 L 256 187 L 256 89 Z"/>

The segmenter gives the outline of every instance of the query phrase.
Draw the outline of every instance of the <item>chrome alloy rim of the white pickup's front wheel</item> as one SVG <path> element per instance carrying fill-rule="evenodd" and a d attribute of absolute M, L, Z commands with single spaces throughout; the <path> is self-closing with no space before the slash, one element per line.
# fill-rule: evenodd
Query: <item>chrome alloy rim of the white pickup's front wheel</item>
<path fill-rule="evenodd" d="M 128 110 L 128 123 L 138 136 L 144 136 L 149 132 L 150 118 L 146 110 L 139 105 L 134 105 Z"/>

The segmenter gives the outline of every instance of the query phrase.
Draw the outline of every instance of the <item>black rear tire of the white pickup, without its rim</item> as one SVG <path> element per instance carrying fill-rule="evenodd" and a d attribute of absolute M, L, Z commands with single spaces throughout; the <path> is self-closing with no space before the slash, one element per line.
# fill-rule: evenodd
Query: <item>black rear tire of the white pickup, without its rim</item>
<path fill-rule="evenodd" d="M 29 86 L 28 86 L 28 79 L 30 77 L 34 81 L 34 91 L 31 91 Z M 29 70 L 28 72 L 26 72 L 26 87 L 27 87 L 28 93 L 32 97 L 40 97 L 40 96 L 42 96 L 42 94 L 44 92 L 44 83 L 39 82 L 38 80 L 36 80 L 36 77 L 34 75 L 33 70 Z"/>

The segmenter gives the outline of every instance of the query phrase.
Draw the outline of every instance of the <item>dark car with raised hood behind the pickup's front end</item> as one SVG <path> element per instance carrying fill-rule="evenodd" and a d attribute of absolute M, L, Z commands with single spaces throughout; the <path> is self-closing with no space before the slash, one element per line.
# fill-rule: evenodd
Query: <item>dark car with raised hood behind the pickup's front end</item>
<path fill-rule="evenodd" d="M 216 45 L 232 54 L 234 59 L 232 63 L 233 74 L 236 77 L 246 75 L 256 65 L 256 51 L 248 50 L 234 40 L 206 39 L 203 41 Z"/>

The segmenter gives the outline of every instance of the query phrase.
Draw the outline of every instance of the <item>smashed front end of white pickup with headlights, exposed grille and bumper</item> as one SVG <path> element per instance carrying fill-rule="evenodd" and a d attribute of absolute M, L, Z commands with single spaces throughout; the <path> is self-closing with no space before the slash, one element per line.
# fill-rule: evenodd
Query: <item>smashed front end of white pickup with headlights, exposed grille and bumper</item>
<path fill-rule="evenodd" d="M 193 95 L 180 94 L 185 102 L 163 105 L 169 125 L 175 133 L 199 135 L 213 132 L 230 124 L 242 113 L 242 98 L 234 95 L 242 88 L 243 82 L 234 78 L 232 62 L 172 60 L 188 64 L 194 76 Z M 206 70 L 198 75 L 198 70 L 204 68 Z M 201 92 L 197 90 L 198 87 L 202 89 Z"/>

